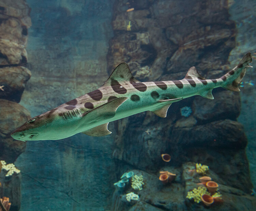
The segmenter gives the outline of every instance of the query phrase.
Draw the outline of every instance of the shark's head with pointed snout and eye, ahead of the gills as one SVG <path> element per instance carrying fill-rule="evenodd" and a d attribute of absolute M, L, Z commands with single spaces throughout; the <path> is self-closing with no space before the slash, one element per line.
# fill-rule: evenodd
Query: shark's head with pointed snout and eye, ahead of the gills
<path fill-rule="evenodd" d="M 59 121 L 59 116 L 48 111 L 39 116 L 35 116 L 28 120 L 22 126 L 17 128 L 11 133 L 13 139 L 19 141 L 35 141 L 35 140 L 56 140 L 60 139 L 57 130 L 54 125 L 56 121 Z"/>

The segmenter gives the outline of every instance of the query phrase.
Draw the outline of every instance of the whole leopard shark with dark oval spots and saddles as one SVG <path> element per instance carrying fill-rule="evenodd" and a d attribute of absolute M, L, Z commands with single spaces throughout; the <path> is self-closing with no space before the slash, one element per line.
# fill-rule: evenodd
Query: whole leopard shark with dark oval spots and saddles
<path fill-rule="evenodd" d="M 76 133 L 109 135 L 108 124 L 111 121 L 144 111 L 166 117 L 173 102 L 194 95 L 214 99 L 212 90 L 217 87 L 239 92 L 239 83 L 246 67 L 252 67 L 249 65 L 251 62 L 249 52 L 236 67 L 217 79 L 206 79 L 191 67 L 182 80 L 156 82 L 138 81 L 132 76 L 127 63 L 121 63 L 97 90 L 31 118 L 11 136 L 20 141 L 33 141 L 59 140 Z"/>

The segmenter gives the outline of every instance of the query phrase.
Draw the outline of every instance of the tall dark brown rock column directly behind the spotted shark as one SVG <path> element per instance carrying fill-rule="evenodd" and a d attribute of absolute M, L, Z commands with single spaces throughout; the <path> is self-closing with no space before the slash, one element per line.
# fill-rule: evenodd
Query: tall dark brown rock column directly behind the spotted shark
<path fill-rule="evenodd" d="M 116 0 L 109 72 L 125 61 L 141 81 L 182 79 L 191 66 L 207 78 L 224 75 L 236 65 L 231 67 L 228 62 L 236 45 L 229 3 L 148 0 L 127 4 Z M 119 174 L 134 166 L 156 174 L 163 167 L 193 161 L 209 165 L 224 185 L 250 194 L 247 138 L 237 121 L 240 95 L 218 88 L 213 96 L 212 101 L 191 97 L 173 103 L 166 119 L 146 112 L 118 120 L 113 157 Z M 184 107 L 191 110 L 188 117 L 181 113 Z M 171 155 L 170 164 L 162 162 L 162 153 Z"/>

